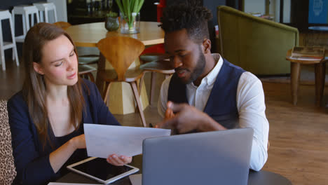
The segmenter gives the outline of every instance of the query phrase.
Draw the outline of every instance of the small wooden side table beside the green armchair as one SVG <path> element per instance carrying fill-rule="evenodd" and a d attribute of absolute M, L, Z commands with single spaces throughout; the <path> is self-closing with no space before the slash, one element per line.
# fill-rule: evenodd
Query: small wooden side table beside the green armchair
<path fill-rule="evenodd" d="M 301 71 L 301 64 L 314 64 L 315 65 L 315 102 L 318 107 L 322 102 L 322 95 L 324 90 L 324 77 L 326 74 L 326 62 L 328 60 L 328 53 L 325 53 L 323 60 L 301 60 L 294 59 L 291 57 L 292 50 L 287 51 L 286 60 L 290 61 L 291 64 L 291 87 L 292 87 L 292 102 L 297 103 L 297 92 L 299 89 L 299 76 Z"/>

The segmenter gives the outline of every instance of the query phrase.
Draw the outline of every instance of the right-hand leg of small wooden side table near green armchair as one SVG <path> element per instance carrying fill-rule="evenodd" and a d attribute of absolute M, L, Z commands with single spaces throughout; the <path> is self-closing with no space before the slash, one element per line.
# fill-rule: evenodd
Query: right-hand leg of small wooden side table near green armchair
<path fill-rule="evenodd" d="M 324 91 L 324 77 L 326 76 L 326 62 L 315 64 L 315 103 L 320 107 Z"/>

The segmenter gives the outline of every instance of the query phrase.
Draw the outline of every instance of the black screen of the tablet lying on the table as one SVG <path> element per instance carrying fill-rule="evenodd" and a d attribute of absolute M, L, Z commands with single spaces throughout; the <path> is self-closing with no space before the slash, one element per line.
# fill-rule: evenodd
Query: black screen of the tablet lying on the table
<path fill-rule="evenodd" d="M 86 174 L 90 174 L 93 177 L 97 177 L 106 181 L 111 179 L 112 177 L 116 177 L 120 174 L 128 172 L 132 170 L 132 167 L 128 167 L 126 165 L 123 166 L 114 166 L 107 163 L 105 158 L 95 158 L 93 160 L 89 160 L 86 163 L 81 163 L 80 165 L 76 165 L 74 167 L 76 170 L 84 172 Z"/>

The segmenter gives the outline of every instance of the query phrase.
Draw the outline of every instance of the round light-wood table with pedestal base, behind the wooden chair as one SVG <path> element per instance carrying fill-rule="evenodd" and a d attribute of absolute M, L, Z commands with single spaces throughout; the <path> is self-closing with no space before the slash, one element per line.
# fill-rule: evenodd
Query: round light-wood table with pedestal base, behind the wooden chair
<path fill-rule="evenodd" d="M 130 36 L 139 39 L 145 46 L 149 46 L 164 43 L 164 32 L 158 27 L 159 24 L 158 22 L 140 22 L 139 34 L 121 34 L 120 29 L 115 32 L 107 32 L 104 22 L 74 25 L 67 28 L 66 32 L 71 36 L 75 45 L 80 47 L 96 47 L 96 43 L 107 36 Z M 111 64 L 105 61 L 104 57 L 100 55 L 98 69 L 112 69 Z M 139 64 L 139 61 L 136 61 L 131 67 Z M 99 78 L 97 78 L 96 84 L 100 93 L 102 93 L 104 82 L 99 81 Z M 140 97 L 143 108 L 146 108 L 149 102 L 145 88 L 142 88 Z M 112 114 L 130 114 L 135 112 L 135 100 L 130 85 L 128 83 L 113 83 L 109 91 L 107 106 Z"/>

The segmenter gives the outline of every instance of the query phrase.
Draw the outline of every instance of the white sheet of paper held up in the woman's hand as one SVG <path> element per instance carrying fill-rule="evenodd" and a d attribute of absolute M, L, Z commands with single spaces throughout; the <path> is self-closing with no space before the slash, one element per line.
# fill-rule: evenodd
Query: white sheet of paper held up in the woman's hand
<path fill-rule="evenodd" d="M 98 158 L 108 158 L 113 153 L 118 156 L 139 155 L 144 139 L 169 136 L 170 133 L 171 130 L 160 128 L 84 124 L 88 156 Z"/>

